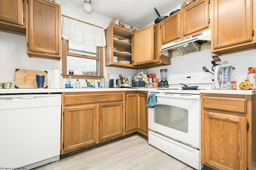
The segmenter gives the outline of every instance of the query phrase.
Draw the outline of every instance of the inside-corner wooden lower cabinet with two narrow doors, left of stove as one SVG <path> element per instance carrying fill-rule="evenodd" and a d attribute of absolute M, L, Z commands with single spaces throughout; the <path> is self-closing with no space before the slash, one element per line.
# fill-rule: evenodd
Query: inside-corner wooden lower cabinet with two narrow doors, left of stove
<path fill-rule="evenodd" d="M 138 132 L 148 137 L 148 92 L 126 94 L 126 133 Z"/>

